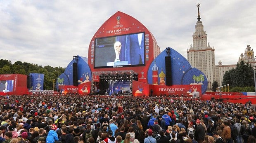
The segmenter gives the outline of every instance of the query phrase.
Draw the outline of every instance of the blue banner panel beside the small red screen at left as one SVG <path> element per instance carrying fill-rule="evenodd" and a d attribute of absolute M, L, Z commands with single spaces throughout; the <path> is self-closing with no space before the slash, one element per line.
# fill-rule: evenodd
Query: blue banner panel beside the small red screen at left
<path fill-rule="evenodd" d="M 44 74 L 30 73 L 29 76 L 31 76 L 32 89 L 35 90 L 35 91 L 43 90 Z"/>

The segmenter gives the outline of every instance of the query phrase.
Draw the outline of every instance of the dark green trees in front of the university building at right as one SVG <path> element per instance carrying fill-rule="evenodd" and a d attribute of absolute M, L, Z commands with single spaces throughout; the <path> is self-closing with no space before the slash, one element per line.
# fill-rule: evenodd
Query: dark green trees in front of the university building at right
<path fill-rule="evenodd" d="M 221 84 L 217 81 L 213 82 L 212 91 L 215 92 L 216 88 L 220 86 L 223 86 L 224 89 L 225 85 L 226 91 L 228 91 L 227 85 L 229 84 L 230 92 L 255 92 L 254 68 L 256 67 L 252 67 L 250 63 L 238 62 L 236 68 L 225 72 Z"/>

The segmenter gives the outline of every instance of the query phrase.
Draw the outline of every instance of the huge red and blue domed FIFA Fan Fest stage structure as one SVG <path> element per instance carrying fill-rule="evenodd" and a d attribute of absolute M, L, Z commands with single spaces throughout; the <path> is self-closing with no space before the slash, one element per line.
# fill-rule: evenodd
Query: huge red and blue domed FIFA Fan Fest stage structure
<path fill-rule="evenodd" d="M 171 47 L 160 52 L 152 33 L 123 12 L 100 26 L 90 41 L 88 59 L 77 56 L 76 62 L 77 83 L 74 61 L 58 77 L 56 87 L 62 93 L 149 96 L 152 91 L 156 96 L 199 97 L 207 89 L 204 73 Z"/>

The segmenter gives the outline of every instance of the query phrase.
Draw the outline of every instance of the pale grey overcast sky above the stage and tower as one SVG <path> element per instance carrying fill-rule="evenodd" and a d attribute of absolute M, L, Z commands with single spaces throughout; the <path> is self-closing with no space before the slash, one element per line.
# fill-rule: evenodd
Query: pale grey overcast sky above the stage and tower
<path fill-rule="evenodd" d="M 197 3 L 216 65 L 236 64 L 247 45 L 256 50 L 256 0 L 0 0 L 0 59 L 66 67 L 88 57 L 92 36 L 117 11 L 146 26 L 161 52 L 187 58 Z"/>

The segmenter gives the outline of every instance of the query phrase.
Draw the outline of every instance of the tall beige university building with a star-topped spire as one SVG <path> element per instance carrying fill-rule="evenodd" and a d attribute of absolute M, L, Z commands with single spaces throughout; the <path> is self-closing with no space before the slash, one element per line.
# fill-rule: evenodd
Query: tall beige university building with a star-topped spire
<path fill-rule="evenodd" d="M 196 31 L 192 35 L 193 45 L 190 45 L 190 49 L 187 49 L 187 60 L 192 67 L 201 70 L 206 75 L 208 89 L 211 89 L 212 83 L 215 80 L 221 85 L 225 72 L 236 68 L 237 64 L 222 65 L 221 61 L 219 61 L 218 65 L 215 65 L 215 49 L 210 46 L 210 42 L 207 43 L 207 34 L 206 31 L 204 31 L 204 25 L 200 18 L 199 7 L 200 4 L 197 5 L 198 16 L 195 26 Z M 249 62 L 251 66 L 256 65 L 254 51 L 251 49 L 250 45 L 247 45 L 244 54 L 240 55 L 238 62 L 240 61 Z"/>

